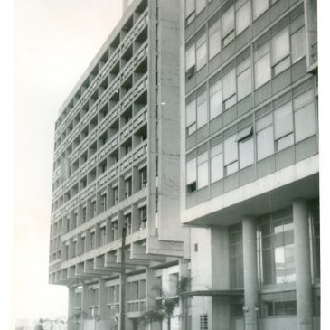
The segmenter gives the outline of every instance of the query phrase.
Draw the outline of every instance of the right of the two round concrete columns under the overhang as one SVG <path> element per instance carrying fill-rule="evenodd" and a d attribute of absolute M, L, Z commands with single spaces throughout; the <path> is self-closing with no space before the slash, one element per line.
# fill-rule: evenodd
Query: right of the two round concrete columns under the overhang
<path fill-rule="evenodd" d="M 297 328 L 313 330 L 312 275 L 306 200 L 294 201 L 293 223 L 296 246 Z"/>

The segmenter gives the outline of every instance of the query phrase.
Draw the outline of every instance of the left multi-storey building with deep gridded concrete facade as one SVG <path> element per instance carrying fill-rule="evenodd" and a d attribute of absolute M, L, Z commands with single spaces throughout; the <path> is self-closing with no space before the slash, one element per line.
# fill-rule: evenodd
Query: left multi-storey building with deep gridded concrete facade
<path fill-rule="evenodd" d="M 124 1 L 120 22 L 61 107 L 50 282 L 69 287 L 70 329 L 117 328 L 123 253 L 127 330 L 138 328 L 158 288 L 174 294 L 188 271 L 179 20 L 176 0 Z"/>

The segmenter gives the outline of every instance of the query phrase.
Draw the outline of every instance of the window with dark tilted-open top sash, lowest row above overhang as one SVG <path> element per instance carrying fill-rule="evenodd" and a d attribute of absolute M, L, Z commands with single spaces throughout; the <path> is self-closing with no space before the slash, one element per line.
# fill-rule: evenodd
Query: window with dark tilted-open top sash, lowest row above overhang
<path fill-rule="evenodd" d="M 254 163 L 254 142 L 252 127 L 240 131 L 237 136 L 239 142 L 240 169 Z"/>

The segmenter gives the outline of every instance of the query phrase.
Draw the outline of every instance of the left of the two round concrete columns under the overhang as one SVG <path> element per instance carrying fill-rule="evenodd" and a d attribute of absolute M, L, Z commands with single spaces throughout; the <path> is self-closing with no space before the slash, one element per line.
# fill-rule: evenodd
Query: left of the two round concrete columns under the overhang
<path fill-rule="evenodd" d="M 257 262 L 257 222 L 252 216 L 242 218 L 244 265 L 245 330 L 258 330 L 259 288 Z"/>

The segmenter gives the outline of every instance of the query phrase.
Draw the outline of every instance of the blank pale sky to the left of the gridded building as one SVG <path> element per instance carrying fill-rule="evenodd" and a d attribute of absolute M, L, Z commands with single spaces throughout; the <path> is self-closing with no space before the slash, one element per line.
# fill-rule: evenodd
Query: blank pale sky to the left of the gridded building
<path fill-rule="evenodd" d="M 67 313 L 66 288 L 48 285 L 54 123 L 121 6 L 121 0 L 14 1 L 14 319 Z"/>

